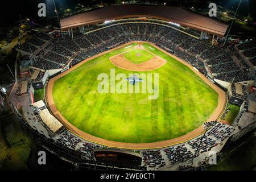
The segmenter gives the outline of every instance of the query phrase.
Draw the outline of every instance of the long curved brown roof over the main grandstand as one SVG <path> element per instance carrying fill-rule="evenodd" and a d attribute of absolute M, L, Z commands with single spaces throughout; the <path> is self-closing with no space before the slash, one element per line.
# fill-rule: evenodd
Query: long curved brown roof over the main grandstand
<path fill-rule="evenodd" d="M 114 5 L 101 9 L 86 11 L 60 20 L 61 30 L 81 27 L 88 24 L 102 23 L 105 20 L 150 16 L 168 22 L 179 23 L 181 26 L 195 28 L 209 34 L 224 36 L 227 24 L 218 22 L 203 15 L 197 15 L 180 7 L 148 6 L 148 5 Z"/>

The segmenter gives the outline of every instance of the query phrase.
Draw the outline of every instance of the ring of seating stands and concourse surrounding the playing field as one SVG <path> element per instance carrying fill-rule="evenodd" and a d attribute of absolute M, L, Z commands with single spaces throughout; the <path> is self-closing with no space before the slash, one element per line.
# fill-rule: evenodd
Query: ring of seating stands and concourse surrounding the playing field
<path fill-rule="evenodd" d="M 51 116 L 45 117 L 42 111 L 48 113 L 48 109 L 44 105 L 46 104 L 44 98 L 42 99 L 44 104 L 39 101 L 40 103 L 37 105 L 30 97 L 35 83 L 46 83 L 43 73 L 49 76 L 52 70 L 57 69 L 59 72 L 63 68 L 64 72 L 65 68 L 122 44 L 145 41 L 159 46 L 195 67 L 211 81 L 249 82 L 253 73 L 247 62 L 253 62 L 255 51 L 247 48 L 247 43 L 236 47 L 231 44 L 228 47 L 212 46 L 207 40 L 199 39 L 200 33 L 196 30 L 187 31 L 170 23 L 159 23 L 154 20 L 143 22 L 143 20 L 129 19 L 101 26 L 89 25 L 86 30 L 83 34 L 78 30 L 74 31 L 73 39 L 67 34 L 63 38 L 55 36 L 59 34 L 57 31 L 51 32 L 51 34 L 39 32 L 34 38 L 16 48 L 23 55 L 31 56 L 30 72 L 33 77 L 31 79 L 22 78 L 22 82 L 20 81 L 11 90 L 10 100 L 15 108 L 22 108 L 21 114 L 18 110 L 14 109 L 14 111 L 31 131 L 31 134 L 35 136 L 36 141 L 53 154 L 69 162 L 81 164 L 81 166 L 85 164 L 97 166 L 98 164 L 98 166 L 113 166 L 118 169 L 183 170 L 204 166 L 208 163 L 210 151 L 221 154 L 221 149 L 228 140 L 240 138 L 243 133 L 255 127 L 256 111 L 249 110 L 251 108 L 249 104 L 253 101 L 248 99 L 250 93 L 247 84 L 242 87 L 242 95 L 238 96 L 242 100 L 242 104 L 240 113 L 233 123 L 227 125 L 220 121 L 206 122 L 200 127 L 203 134 L 200 132 L 197 137 L 188 141 L 164 148 L 150 149 L 149 147 L 136 150 L 142 156 L 141 166 L 125 166 L 120 163 L 106 164 L 106 162 L 96 160 L 94 149 L 105 148 L 105 146 L 73 134 L 61 126 L 61 123 L 51 115 L 52 113 L 49 113 Z M 253 42 L 253 40 L 251 41 Z M 253 45 L 255 46 L 255 44 Z M 238 51 L 239 49 L 244 51 Z M 251 50 L 252 52 L 250 52 Z M 36 73 L 33 74 L 34 72 Z M 53 76 L 54 73 L 51 77 Z M 32 86 L 33 84 L 34 86 Z M 232 88 L 233 92 L 236 92 L 236 86 L 232 86 Z"/>

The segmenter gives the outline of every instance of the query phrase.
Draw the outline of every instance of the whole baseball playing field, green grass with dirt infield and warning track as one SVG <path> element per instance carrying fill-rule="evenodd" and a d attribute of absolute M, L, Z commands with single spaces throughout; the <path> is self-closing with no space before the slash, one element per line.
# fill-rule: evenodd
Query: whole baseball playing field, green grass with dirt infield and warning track
<path fill-rule="evenodd" d="M 117 56 L 122 59 L 113 62 Z M 110 69 L 126 75 L 158 73 L 158 99 L 148 100 L 147 93 L 98 93 L 97 76 L 110 75 Z M 49 80 L 46 97 L 69 130 L 123 148 L 163 147 L 196 137 L 204 131 L 202 124 L 218 119 L 225 106 L 221 89 L 191 65 L 146 42 L 139 47 L 138 42 L 126 43 L 82 61 Z"/>

